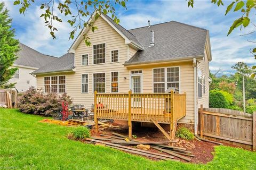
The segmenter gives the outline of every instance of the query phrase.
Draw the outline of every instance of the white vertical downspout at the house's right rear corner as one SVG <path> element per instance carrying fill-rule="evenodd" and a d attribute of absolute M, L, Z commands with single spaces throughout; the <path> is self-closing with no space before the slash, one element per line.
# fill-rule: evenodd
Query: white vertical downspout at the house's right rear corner
<path fill-rule="evenodd" d="M 197 63 L 196 58 L 193 58 L 193 67 L 194 67 L 194 133 L 197 135 L 197 122 L 198 122 L 198 111 L 197 111 Z"/>

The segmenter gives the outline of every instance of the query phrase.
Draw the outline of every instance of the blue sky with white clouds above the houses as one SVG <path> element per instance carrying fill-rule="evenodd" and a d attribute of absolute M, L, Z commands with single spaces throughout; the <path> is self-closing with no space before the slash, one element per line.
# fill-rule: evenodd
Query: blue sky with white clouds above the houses
<path fill-rule="evenodd" d="M 227 6 L 231 1 L 224 1 Z M 66 22 L 56 23 L 58 32 L 57 39 L 52 39 L 49 29 L 44 27 L 44 20 L 39 18 L 42 11 L 39 9 L 41 2 L 33 4 L 23 14 L 19 13 L 18 6 L 13 6 L 13 1 L 5 1 L 9 14 L 13 18 L 12 27 L 16 30 L 16 36 L 21 43 L 38 50 L 43 54 L 61 56 L 65 54 L 73 43 L 69 40 L 69 32 L 72 30 Z M 241 36 L 253 30 L 248 27 L 245 30 L 233 31 L 227 37 L 227 32 L 233 21 L 240 13 L 230 12 L 225 16 L 226 7 L 217 7 L 210 0 L 196 0 L 194 8 L 187 6 L 187 1 L 129 1 L 126 3 L 127 10 L 117 7 L 117 15 L 121 25 L 126 29 L 143 27 L 148 24 L 157 24 L 168 21 L 178 21 L 210 30 L 212 48 L 212 62 L 210 70 L 215 72 L 221 68 L 222 74 L 234 72 L 231 65 L 239 61 L 252 65 L 255 64 L 254 57 L 249 53 L 253 43 L 247 41 L 255 40 L 256 35 Z M 62 20 L 68 20 L 62 16 Z M 254 18 L 251 18 L 255 21 Z"/>

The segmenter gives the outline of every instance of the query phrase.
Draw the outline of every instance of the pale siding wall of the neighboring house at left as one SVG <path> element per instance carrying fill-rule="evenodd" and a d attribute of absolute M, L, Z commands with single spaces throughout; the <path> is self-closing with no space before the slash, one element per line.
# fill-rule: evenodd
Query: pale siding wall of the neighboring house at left
<path fill-rule="evenodd" d="M 29 89 L 29 87 L 33 86 L 36 87 L 36 78 L 33 77 L 33 75 L 29 74 L 33 71 L 35 71 L 35 69 L 28 69 L 25 67 L 18 67 L 19 69 L 19 79 L 17 78 L 12 78 L 11 80 L 9 80 L 10 83 L 16 83 L 15 84 L 15 88 L 21 92 L 21 91 L 27 91 Z M 28 83 L 29 81 L 29 83 Z"/>

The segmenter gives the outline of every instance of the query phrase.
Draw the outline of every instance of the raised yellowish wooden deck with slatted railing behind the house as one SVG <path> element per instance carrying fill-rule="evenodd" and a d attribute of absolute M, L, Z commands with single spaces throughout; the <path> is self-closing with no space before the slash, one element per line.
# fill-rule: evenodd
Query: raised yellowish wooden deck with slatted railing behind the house
<path fill-rule="evenodd" d="M 130 137 L 132 122 L 170 124 L 172 133 L 175 132 L 177 121 L 185 115 L 186 93 L 174 94 L 173 91 L 170 94 L 132 94 L 131 91 L 128 94 L 94 93 L 96 131 L 98 119 L 109 118 L 128 121 Z M 173 136 L 173 133 L 170 135 Z"/>

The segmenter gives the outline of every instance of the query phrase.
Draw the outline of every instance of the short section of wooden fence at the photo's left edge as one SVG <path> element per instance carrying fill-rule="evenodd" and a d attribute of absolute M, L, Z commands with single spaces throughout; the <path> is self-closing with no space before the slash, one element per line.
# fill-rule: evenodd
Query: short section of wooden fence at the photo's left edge
<path fill-rule="evenodd" d="M 18 103 L 17 91 L 0 89 L 0 107 L 16 108 Z"/>

